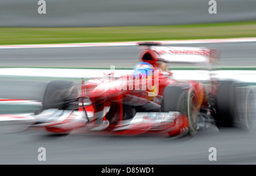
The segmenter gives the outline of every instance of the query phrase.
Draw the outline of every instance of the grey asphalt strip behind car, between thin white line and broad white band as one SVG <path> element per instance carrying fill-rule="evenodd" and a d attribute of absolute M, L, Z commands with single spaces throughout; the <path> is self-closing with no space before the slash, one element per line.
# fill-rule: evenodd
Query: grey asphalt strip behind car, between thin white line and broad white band
<path fill-rule="evenodd" d="M 256 42 L 168 46 L 216 48 L 221 51 L 220 66 L 256 66 Z M 7 67 L 134 67 L 139 62 L 138 53 L 139 46 L 0 49 L 0 63 Z"/>

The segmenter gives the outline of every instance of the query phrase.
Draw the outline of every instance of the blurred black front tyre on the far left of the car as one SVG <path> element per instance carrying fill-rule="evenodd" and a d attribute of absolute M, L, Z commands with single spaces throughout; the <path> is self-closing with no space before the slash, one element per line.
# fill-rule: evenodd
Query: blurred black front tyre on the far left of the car
<path fill-rule="evenodd" d="M 72 102 L 79 96 L 78 89 L 72 81 L 52 80 L 46 87 L 43 109 L 76 110 L 78 102 Z"/>

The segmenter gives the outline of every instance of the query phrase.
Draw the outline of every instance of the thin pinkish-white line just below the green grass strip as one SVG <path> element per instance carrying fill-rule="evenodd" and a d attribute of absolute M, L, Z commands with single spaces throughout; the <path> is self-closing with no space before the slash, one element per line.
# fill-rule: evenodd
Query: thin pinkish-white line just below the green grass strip
<path fill-rule="evenodd" d="M 226 39 L 206 39 L 206 40 L 164 40 L 155 41 L 162 44 L 204 44 L 221 42 L 255 42 L 253 38 L 226 38 Z M 137 42 L 98 42 L 98 43 L 80 43 L 80 44 L 42 44 L 42 45 L 0 45 L 0 49 L 18 49 L 18 48 L 72 48 L 72 47 L 92 47 L 92 46 L 134 46 Z"/>

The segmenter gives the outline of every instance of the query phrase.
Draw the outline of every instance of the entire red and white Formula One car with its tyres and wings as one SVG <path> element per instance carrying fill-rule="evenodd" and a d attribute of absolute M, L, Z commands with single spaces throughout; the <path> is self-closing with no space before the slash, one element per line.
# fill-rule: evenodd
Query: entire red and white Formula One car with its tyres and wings
<path fill-rule="evenodd" d="M 210 48 L 140 43 L 141 62 L 131 74 L 82 80 L 79 91 L 71 81 L 48 83 L 43 109 L 30 115 L 33 126 L 69 133 L 78 128 L 112 134 L 195 135 L 210 123 L 250 130 L 254 93 L 245 83 L 217 80 L 212 66 L 220 53 Z M 175 80 L 167 63 L 200 63 L 208 80 Z M 187 75 L 189 76 L 189 75 Z M 30 119 L 31 121 L 31 119 Z"/>

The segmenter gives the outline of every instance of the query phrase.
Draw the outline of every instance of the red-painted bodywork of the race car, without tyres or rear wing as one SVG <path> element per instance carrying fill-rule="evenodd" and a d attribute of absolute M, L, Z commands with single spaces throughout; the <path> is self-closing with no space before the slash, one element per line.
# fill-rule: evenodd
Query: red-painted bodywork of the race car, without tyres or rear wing
<path fill-rule="evenodd" d="M 86 83 L 82 81 L 81 96 L 88 97 L 90 101 L 92 101 L 92 105 L 84 106 L 84 108 L 86 111 L 93 111 L 94 125 L 100 125 L 101 121 L 106 121 L 106 119 L 108 119 L 110 125 L 107 130 L 112 131 L 117 125 L 122 124 L 122 121 L 125 120 L 123 119 L 123 106 L 143 106 L 152 104 L 152 106 L 160 107 L 164 89 L 170 85 L 187 88 L 193 87 L 199 102 L 198 108 L 201 109 L 201 107 L 208 106 L 207 91 L 204 84 L 195 80 L 177 81 L 173 79 L 172 72 L 168 70 L 166 63 L 158 61 L 158 54 L 154 50 L 143 50 L 141 61 L 150 63 L 155 71 L 158 72 L 158 76 L 156 76 L 156 81 L 158 81 L 158 93 L 155 96 L 148 96 L 148 92 L 150 92 L 148 89 L 129 89 L 129 85 L 135 87 L 136 84 L 133 75 L 123 75 L 121 78 L 115 79 L 114 75 L 110 74 L 106 78 L 92 79 Z M 152 80 L 153 84 L 154 81 L 155 79 Z M 140 87 L 143 84 L 146 84 L 146 82 L 141 82 L 139 84 Z M 119 85 L 120 87 L 118 88 L 116 85 Z M 214 92 L 214 84 L 211 85 L 210 90 Z M 104 111 L 106 106 L 110 106 L 107 113 Z M 84 110 L 84 108 L 80 108 L 80 110 Z M 101 120 L 96 120 L 98 118 Z M 115 134 L 134 135 L 144 132 L 161 132 L 161 130 L 163 130 L 163 132 L 168 132 L 170 135 L 179 135 L 188 129 L 189 122 L 185 114 L 180 114 L 176 117 L 174 122 L 165 125 L 162 124 L 162 126 L 163 128 L 154 131 L 152 130 L 154 129 L 154 124 L 147 121 L 143 123 L 143 125 L 140 124 L 137 127 L 118 131 L 115 132 Z M 169 131 L 166 131 L 167 128 Z"/>

